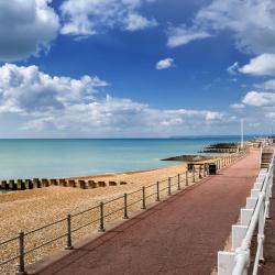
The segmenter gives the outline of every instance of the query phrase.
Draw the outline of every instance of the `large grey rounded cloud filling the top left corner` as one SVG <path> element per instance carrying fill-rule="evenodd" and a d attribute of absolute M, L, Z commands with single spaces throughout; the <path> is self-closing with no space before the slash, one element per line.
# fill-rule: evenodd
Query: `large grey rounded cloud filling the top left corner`
<path fill-rule="evenodd" d="M 51 0 L 0 1 L 0 61 L 18 61 L 48 50 L 59 29 Z"/>

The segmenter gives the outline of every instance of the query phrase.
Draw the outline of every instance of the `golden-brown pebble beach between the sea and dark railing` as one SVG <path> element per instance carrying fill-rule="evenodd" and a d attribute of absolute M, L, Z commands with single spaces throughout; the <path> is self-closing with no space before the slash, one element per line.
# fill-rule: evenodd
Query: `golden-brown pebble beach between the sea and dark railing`
<path fill-rule="evenodd" d="M 116 221 L 123 217 L 123 211 L 119 210 L 123 207 L 122 196 L 123 194 L 133 193 L 129 196 L 129 204 L 131 201 L 138 201 L 141 199 L 141 188 L 143 186 L 152 186 L 157 180 L 162 182 L 160 188 L 164 189 L 167 186 L 168 177 L 177 176 L 177 174 L 183 174 L 186 170 L 186 165 L 178 165 L 173 167 L 165 167 L 144 172 L 131 172 L 122 173 L 116 175 L 102 175 L 95 177 L 78 177 L 78 179 L 95 179 L 103 182 L 127 182 L 127 185 L 118 186 L 107 186 L 99 187 L 95 189 L 78 189 L 70 187 L 51 186 L 40 189 L 31 189 L 24 191 L 15 191 L 10 194 L 2 194 L 0 200 L 1 209 L 1 221 L 0 221 L 0 242 L 16 237 L 20 231 L 30 232 L 45 224 L 63 220 L 68 213 L 73 216 L 79 211 L 87 210 L 89 208 L 96 207 L 94 210 L 88 211 L 84 215 L 73 217 L 72 227 L 77 228 L 79 224 L 86 224 L 91 220 L 97 220 L 99 210 L 97 206 L 103 201 L 109 201 L 116 198 L 111 204 L 106 206 L 105 211 L 110 212 L 116 209 L 118 211 L 114 215 L 110 215 L 106 218 L 106 222 Z M 177 177 L 172 178 L 172 184 L 176 184 Z M 176 187 L 174 187 L 176 190 Z M 146 195 L 155 193 L 155 185 L 146 189 Z M 161 191 L 161 198 L 166 197 L 167 190 Z M 147 199 L 147 202 L 155 201 L 152 196 Z M 129 211 L 140 210 L 140 202 L 133 204 L 129 207 Z M 73 241 L 80 240 L 84 235 L 87 235 L 91 230 L 97 230 L 98 222 L 90 224 L 89 227 L 84 227 L 82 229 L 76 231 L 73 234 Z M 66 220 L 59 223 L 46 228 L 45 230 L 40 230 L 25 238 L 26 251 L 32 250 L 42 242 L 52 240 L 58 235 L 66 233 Z M 66 238 L 62 238 L 56 242 L 35 250 L 26 255 L 28 264 L 34 263 L 54 251 L 64 249 L 66 245 Z M 6 246 L 6 248 L 4 248 Z M 0 257 L 6 260 L 8 256 L 15 256 L 18 250 L 14 249 L 13 244 L 7 244 L 0 250 Z M 4 255 L 2 254 L 4 253 Z M 12 262 L 6 265 L 4 268 L 1 267 L 0 273 L 14 274 L 16 267 L 16 262 Z"/>

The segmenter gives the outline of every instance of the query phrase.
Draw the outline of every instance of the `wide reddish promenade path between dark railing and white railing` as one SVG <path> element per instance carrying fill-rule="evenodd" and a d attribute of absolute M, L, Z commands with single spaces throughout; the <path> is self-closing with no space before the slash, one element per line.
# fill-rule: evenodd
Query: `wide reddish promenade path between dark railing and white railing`
<path fill-rule="evenodd" d="M 254 151 L 40 274 L 210 274 L 257 173 L 258 152 Z"/>

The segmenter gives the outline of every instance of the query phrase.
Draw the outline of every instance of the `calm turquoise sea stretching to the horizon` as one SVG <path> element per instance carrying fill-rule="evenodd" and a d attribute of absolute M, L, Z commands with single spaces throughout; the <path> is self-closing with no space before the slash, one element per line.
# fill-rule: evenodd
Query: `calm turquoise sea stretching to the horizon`
<path fill-rule="evenodd" d="M 0 179 L 80 176 L 173 166 L 177 163 L 160 160 L 197 153 L 210 143 L 239 140 L 239 136 L 0 140 Z"/>

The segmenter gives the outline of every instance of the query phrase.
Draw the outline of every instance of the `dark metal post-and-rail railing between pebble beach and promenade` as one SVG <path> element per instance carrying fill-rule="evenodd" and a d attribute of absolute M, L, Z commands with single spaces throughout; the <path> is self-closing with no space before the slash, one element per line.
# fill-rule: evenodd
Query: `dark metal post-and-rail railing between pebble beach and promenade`
<path fill-rule="evenodd" d="M 229 156 L 211 161 L 211 163 L 215 163 L 217 165 L 217 168 L 221 169 L 224 166 L 228 166 L 229 164 L 234 162 L 235 160 L 245 155 L 245 151 L 233 153 Z M 9 250 L 15 249 L 18 251 L 18 253 L 13 254 L 12 256 L 8 256 L 8 258 L 2 260 L 0 262 L 0 267 L 10 264 L 11 262 L 18 262 L 18 272 L 20 274 L 25 274 L 25 265 L 28 263 L 26 256 L 29 254 L 34 253 L 35 251 L 41 250 L 58 241 L 63 241 L 66 243 L 64 245 L 66 250 L 73 250 L 73 234 L 77 231 L 82 230 L 87 227 L 91 228 L 91 226 L 97 226 L 99 232 L 105 232 L 106 222 L 108 222 L 108 219 L 110 220 L 110 216 L 119 215 L 120 218 L 129 219 L 129 212 L 130 209 L 133 208 L 133 206 L 138 207 L 138 205 L 140 204 L 140 208 L 145 210 L 147 208 L 148 202 L 161 201 L 163 197 L 172 196 L 173 193 L 180 191 L 183 188 L 188 187 L 191 183 L 196 183 L 196 180 L 199 180 L 206 176 L 208 176 L 208 169 L 207 166 L 204 165 L 204 168 L 194 168 L 191 172 L 186 170 L 183 174 L 177 174 L 173 177 L 168 177 L 167 179 L 160 180 L 147 186 L 143 186 L 140 189 L 124 194 L 123 196 L 120 196 L 112 200 L 106 202 L 101 201 L 97 206 L 88 208 L 84 211 L 68 213 L 67 217 L 64 219 L 59 219 L 32 231 L 21 231 L 18 237 L 0 242 L 0 248 L 4 245 L 10 245 Z M 112 202 L 118 202 L 119 207 L 117 209 L 109 207 Z M 88 221 L 82 224 L 79 224 L 78 218 L 85 215 L 87 215 Z M 90 219 L 91 216 L 96 216 L 97 218 Z M 43 230 L 46 230 L 47 232 L 53 231 L 55 233 L 55 237 L 50 238 L 50 240 L 45 240 L 43 242 L 40 242 L 38 240 L 33 246 L 30 244 L 28 245 L 28 238 L 31 239 L 35 233 L 41 237 L 43 234 Z"/>

